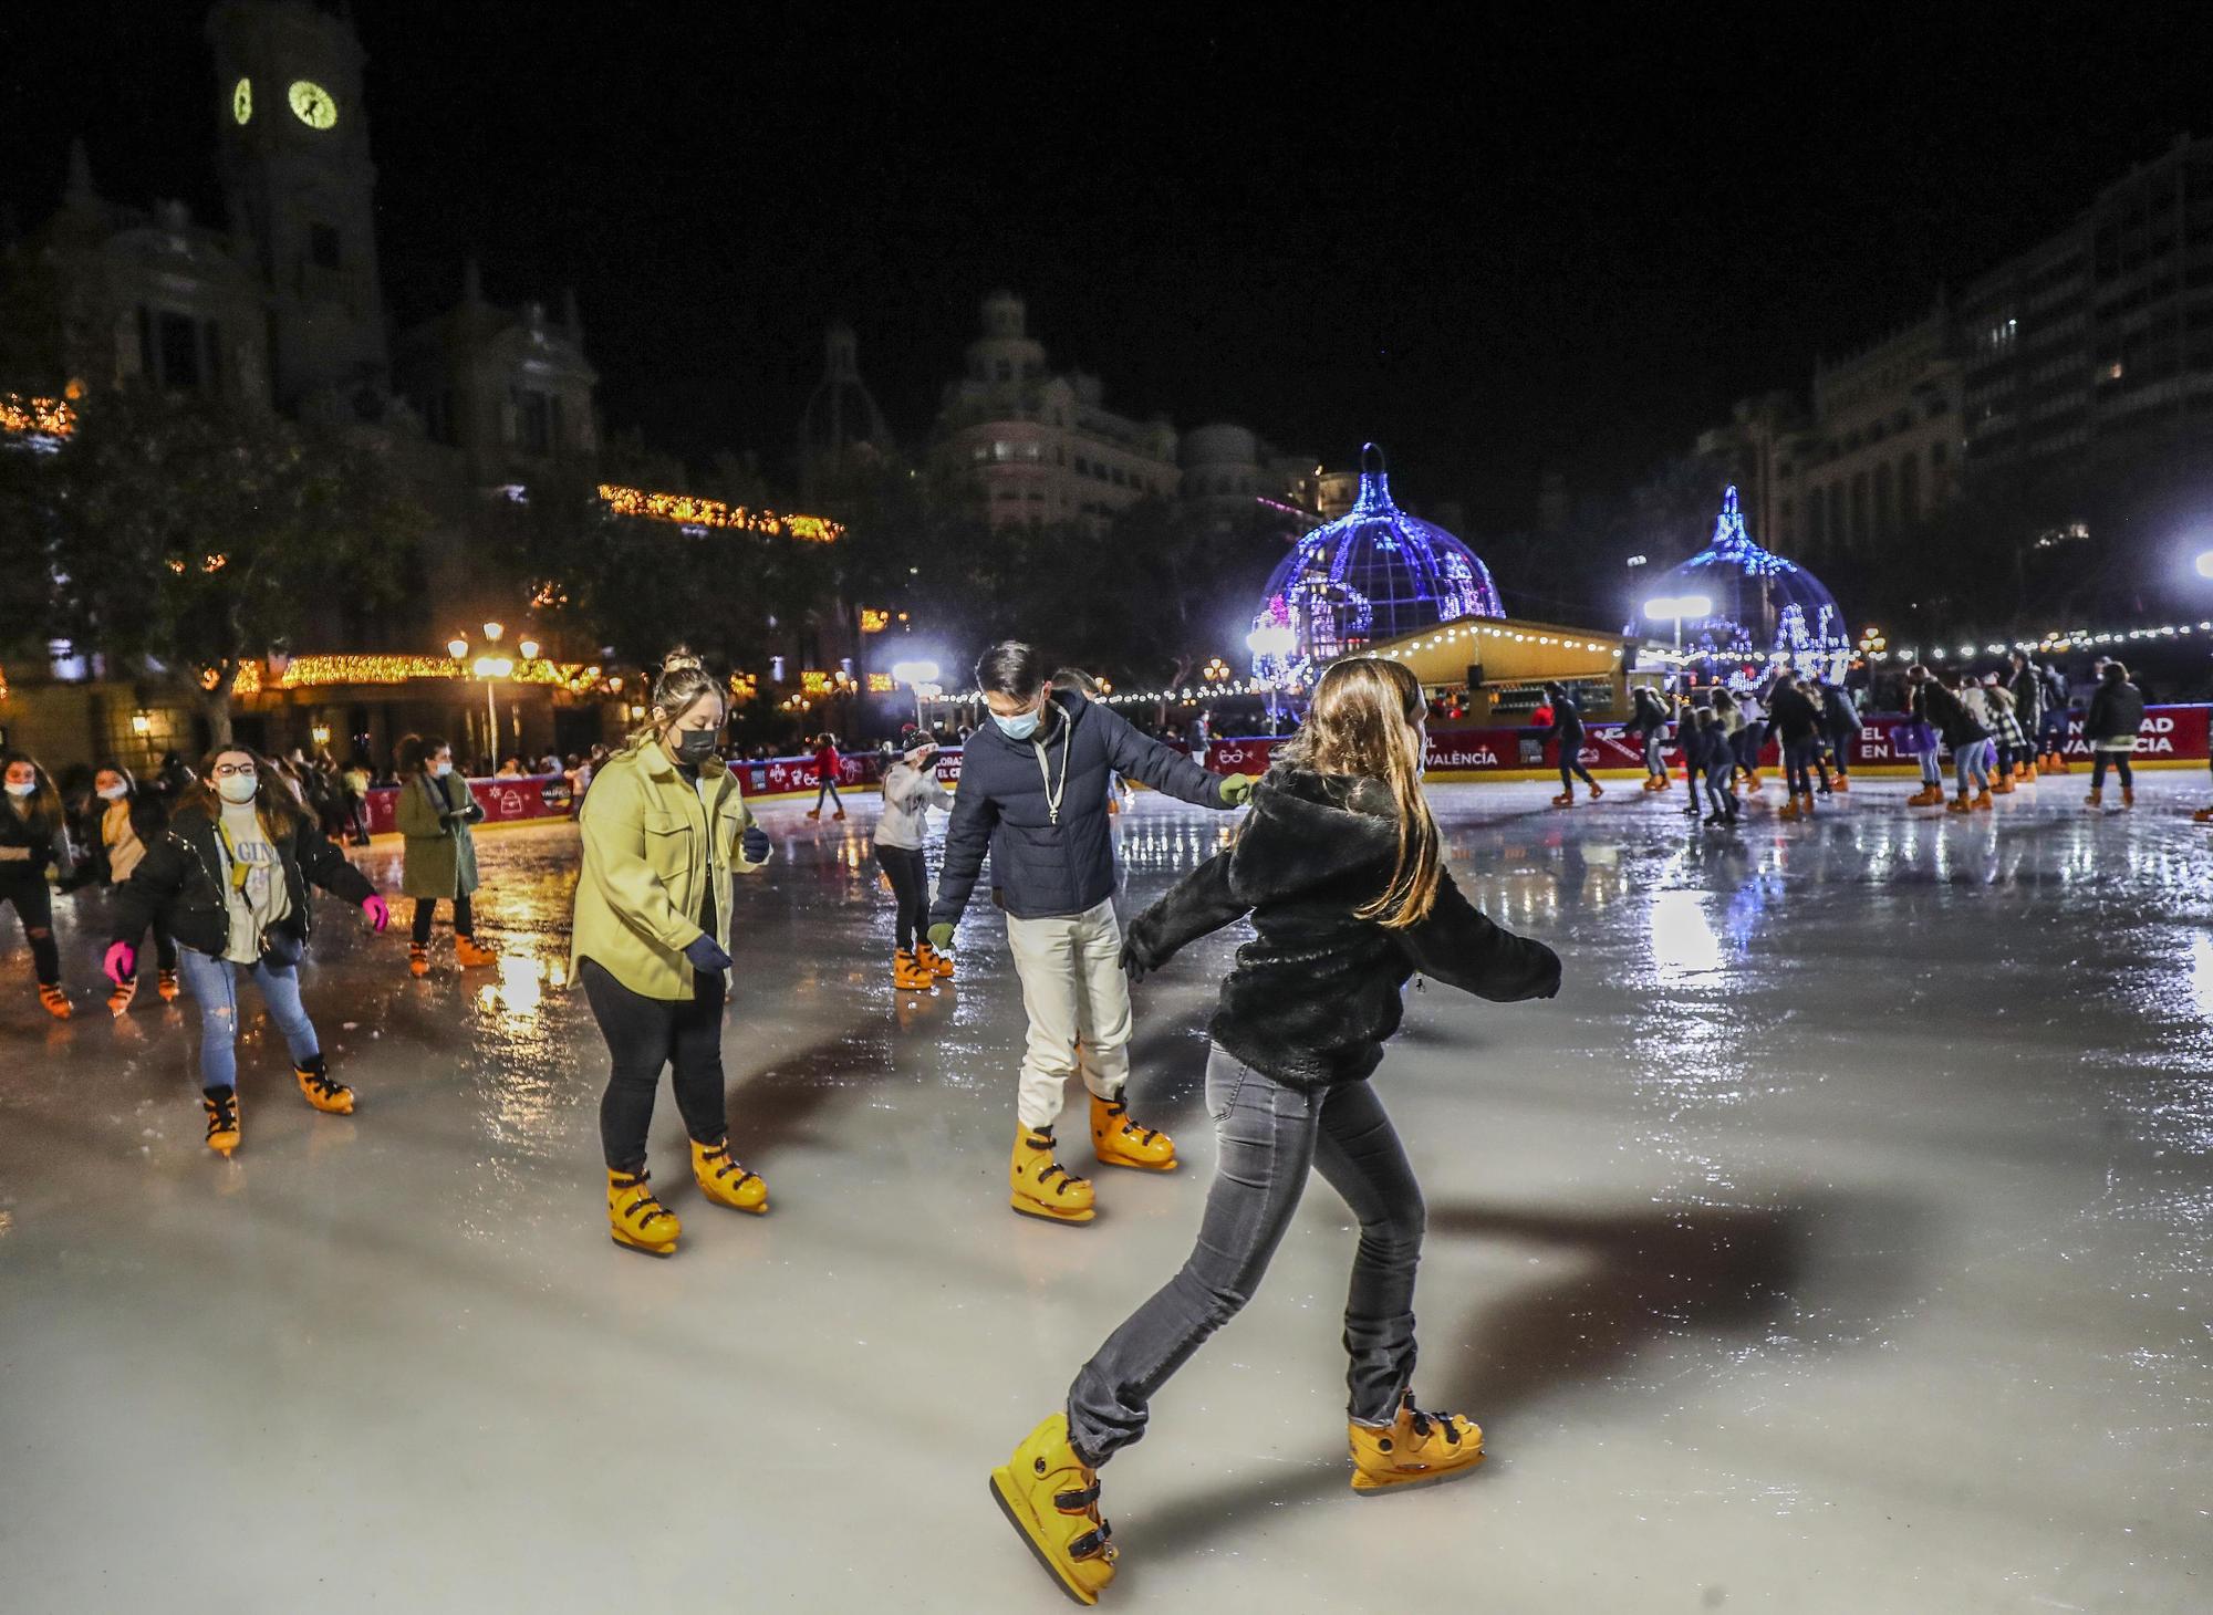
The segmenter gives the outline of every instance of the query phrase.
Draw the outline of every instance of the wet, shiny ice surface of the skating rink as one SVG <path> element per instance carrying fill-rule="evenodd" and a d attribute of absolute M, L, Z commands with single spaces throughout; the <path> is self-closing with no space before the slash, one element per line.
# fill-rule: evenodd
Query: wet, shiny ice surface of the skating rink
<path fill-rule="evenodd" d="M 2204 779 L 2102 819 L 2082 774 L 1972 819 L 1908 790 L 1779 825 L 1770 788 L 1737 834 L 1680 790 L 1434 792 L 1463 885 L 1567 962 L 1549 1004 L 1410 991 L 1376 1075 L 1430 1197 L 1419 1389 L 1492 1456 L 1348 1491 L 1317 1179 L 1104 1471 L 1109 1604 L 2213 1608 Z M 985 1478 L 1188 1248 L 1235 934 L 1137 989 L 1133 1111 L 1184 1170 L 1025 1221 L 1005 931 L 972 911 L 960 980 L 894 1007 L 872 816 L 766 810 L 724 1057 L 772 1215 L 699 1201 L 664 1086 L 673 1261 L 606 1239 L 573 830 L 482 836 L 491 971 L 440 918 L 409 980 L 407 905 L 374 938 L 323 900 L 305 1000 L 361 1113 L 250 1009 L 228 1164 L 190 1004 L 100 1004 L 102 898 L 58 903 L 66 1027 L 0 920 L 0 1608 L 1062 1608 Z M 1230 827 L 1120 823 L 1131 905 Z"/>

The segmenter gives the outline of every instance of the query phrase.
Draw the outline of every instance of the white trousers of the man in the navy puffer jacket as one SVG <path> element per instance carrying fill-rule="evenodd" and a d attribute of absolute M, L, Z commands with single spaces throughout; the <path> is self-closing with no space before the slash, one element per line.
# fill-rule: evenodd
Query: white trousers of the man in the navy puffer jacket
<path fill-rule="evenodd" d="M 1129 1084 L 1129 978 L 1122 976 L 1122 923 L 1113 900 L 1045 920 L 1007 916 L 1007 945 L 1022 978 L 1029 1046 L 1016 1115 L 1022 1126 L 1060 1119 L 1067 1080 L 1078 1071 L 1102 1100 Z"/>

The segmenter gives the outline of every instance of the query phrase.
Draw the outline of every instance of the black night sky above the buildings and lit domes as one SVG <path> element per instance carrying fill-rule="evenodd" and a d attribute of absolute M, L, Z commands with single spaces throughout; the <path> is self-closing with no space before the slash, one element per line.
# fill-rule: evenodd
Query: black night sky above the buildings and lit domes
<path fill-rule="evenodd" d="M 573 283 L 617 429 L 781 476 L 821 327 L 848 319 L 914 442 L 978 296 L 1009 285 L 1111 407 L 1330 465 L 1372 436 L 1410 502 L 1461 500 L 1480 535 L 1531 520 L 1545 467 L 1604 491 L 1733 398 L 1804 392 L 1817 352 L 2213 131 L 2182 11 L 1770 7 L 1759 33 L 1576 7 L 1368 33 L 1399 9 L 356 20 L 396 323 L 451 303 L 469 252 L 498 301 Z M 219 215 L 201 15 L 4 7 L 18 219 L 51 212 L 77 133 L 102 192 Z"/>

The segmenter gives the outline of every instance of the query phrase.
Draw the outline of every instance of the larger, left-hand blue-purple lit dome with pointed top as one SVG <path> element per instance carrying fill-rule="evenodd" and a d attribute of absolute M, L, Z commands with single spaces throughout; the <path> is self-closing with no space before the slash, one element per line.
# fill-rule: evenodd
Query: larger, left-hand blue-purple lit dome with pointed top
<path fill-rule="evenodd" d="M 1434 522 L 1390 502 L 1383 451 L 1361 447 L 1352 511 L 1290 546 L 1246 637 L 1253 675 L 1310 684 L 1337 657 L 1458 617 L 1505 617 L 1492 573 Z"/>

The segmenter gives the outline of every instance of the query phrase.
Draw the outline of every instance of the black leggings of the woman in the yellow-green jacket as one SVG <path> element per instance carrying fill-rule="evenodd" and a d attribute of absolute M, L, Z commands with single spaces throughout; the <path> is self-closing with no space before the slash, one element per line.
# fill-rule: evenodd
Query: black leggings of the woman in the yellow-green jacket
<path fill-rule="evenodd" d="M 675 1066 L 684 1130 L 697 1144 L 721 1144 L 730 1130 L 721 1093 L 721 971 L 697 971 L 690 998 L 633 993 L 591 958 L 578 976 L 615 1062 L 600 1095 L 600 1148 L 609 1170 L 646 1170 L 646 1130 L 653 1126 L 662 1066 Z"/>

